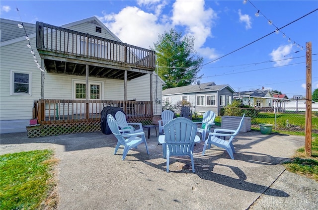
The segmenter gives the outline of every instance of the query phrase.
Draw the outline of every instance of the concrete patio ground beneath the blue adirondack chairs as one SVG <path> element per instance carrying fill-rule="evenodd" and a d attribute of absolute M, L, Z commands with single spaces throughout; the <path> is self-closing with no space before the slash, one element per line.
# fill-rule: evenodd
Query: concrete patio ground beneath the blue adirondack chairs
<path fill-rule="evenodd" d="M 59 210 L 316 210 L 318 183 L 290 173 L 287 161 L 305 138 L 240 133 L 232 160 L 218 147 L 195 145 L 195 173 L 189 158 L 172 157 L 165 172 L 155 129 L 145 145 L 122 149 L 101 132 L 28 138 L 25 133 L 1 134 L 0 154 L 52 148 L 58 165 Z M 147 138 L 147 130 L 145 130 Z"/>

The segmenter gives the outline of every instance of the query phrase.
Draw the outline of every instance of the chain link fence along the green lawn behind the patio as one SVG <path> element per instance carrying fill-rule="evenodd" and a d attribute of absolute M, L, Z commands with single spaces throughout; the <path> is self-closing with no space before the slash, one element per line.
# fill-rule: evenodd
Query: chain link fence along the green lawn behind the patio
<path fill-rule="evenodd" d="M 259 124 L 272 124 L 274 131 L 305 132 L 306 113 L 305 110 L 295 108 L 236 108 L 234 113 L 245 113 L 251 118 L 251 127 L 259 129 Z M 220 115 L 215 122 L 222 123 L 225 115 L 224 108 L 220 108 Z M 240 116 L 241 116 L 240 115 Z M 312 108 L 312 132 L 318 134 L 318 108 Z"/>

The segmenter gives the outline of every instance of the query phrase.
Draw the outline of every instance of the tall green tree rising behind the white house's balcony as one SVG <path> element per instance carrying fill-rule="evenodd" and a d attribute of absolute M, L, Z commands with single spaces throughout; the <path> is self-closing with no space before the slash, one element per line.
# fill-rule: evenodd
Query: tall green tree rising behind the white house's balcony
<path fill-rule="evenodd" d="M 157 53 L 158 75 L 166 82 L 163 89 L 189 85 L 197 79 L 203 58 L 194 50 L 193 37 L 182 37 L 181 32 L 170 29 L 158 36 L 153 50 Z"/>

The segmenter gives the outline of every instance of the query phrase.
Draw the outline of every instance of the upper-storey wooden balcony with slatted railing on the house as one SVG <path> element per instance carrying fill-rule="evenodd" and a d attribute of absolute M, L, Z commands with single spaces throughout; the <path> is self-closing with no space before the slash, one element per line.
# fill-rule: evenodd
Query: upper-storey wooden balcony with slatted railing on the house
<path fill-rule="evenodd" d="M 36 22 L 36 47 L 48 72 L 127 80 L 155 70 L 155 51 Z"/>

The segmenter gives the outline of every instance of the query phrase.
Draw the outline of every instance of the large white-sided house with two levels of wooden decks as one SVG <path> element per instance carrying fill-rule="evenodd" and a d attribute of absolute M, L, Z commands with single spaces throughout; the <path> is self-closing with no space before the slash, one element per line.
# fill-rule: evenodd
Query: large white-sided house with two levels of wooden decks
<path fill-rule="evenodd" d="M 32 118 L 98 127 L 108 105 L 134 122 L 160 116 L 164 82 L 154 51 L 121 42 L 96 17 L 61 27 L 18 24 L 0 18 L 0 133 L 26 131 Z"/>

